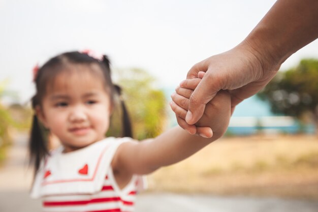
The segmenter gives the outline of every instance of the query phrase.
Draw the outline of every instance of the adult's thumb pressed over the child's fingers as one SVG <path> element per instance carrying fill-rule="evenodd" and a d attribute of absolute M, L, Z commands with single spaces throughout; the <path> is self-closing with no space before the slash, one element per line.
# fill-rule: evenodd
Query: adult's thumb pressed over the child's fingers
<path fill-rule="evenodd" d="M 205 105 L 215 97 L 218 90 L 215 90 L 211 84 L 209 75 L 205 74 L 190 96 L 188 111 L 185 116 L 187 124 L 196 124 L 204 113 Z"/>

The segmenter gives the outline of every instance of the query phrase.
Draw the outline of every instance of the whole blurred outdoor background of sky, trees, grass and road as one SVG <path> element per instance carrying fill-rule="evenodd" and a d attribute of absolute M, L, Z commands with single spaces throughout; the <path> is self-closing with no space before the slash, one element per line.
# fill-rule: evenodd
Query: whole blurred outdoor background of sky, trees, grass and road
<path fill-rule="evenodd" d="M 0 0 L 0 211 L 41 208 L 28 197 L 26 149 L 36 64 L 72 50 L 109 55 L 135 138 L 153 137 L 177 124 L 168 103 L 187 71 L 240 43 L 274 3 Z M 158 199 L 157 211 L 317 211 L 317 102 L 316 40 L 237 106 L 222 139 L 149 175 L 137 211 Z"/>

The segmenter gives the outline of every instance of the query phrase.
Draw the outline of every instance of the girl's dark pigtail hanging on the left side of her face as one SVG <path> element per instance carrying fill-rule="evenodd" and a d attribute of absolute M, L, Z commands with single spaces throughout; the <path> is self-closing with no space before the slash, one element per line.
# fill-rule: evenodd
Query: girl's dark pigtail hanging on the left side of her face
<path fill-rule="evenodd" d="M 35 97 L 32 99 L 32 103 L 35 107 Z M 38 117 L 34 115 L 30 132 L 29 154 L 30 163 L 34 163 L 35 173 L 39 170 L 41 161 L 49 154 L 47 142 L 43 138 L 42 133 L 43 129 L 41 128 Z"/>

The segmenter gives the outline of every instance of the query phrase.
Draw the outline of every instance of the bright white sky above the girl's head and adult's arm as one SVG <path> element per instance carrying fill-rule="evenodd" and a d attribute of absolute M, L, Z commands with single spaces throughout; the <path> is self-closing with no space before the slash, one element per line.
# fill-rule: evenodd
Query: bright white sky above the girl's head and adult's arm
<path fill-rule="evenodd" d="M 273 0 L 0 0 L 0 81 L 24 102 L 32 69 L 58 53 L 92 49 L 114 68 L 137 67 L 174 87 L 195 63 L 241 42 Z M 287 69 L 318 57 L 318 41 L 292 55 Z"/>

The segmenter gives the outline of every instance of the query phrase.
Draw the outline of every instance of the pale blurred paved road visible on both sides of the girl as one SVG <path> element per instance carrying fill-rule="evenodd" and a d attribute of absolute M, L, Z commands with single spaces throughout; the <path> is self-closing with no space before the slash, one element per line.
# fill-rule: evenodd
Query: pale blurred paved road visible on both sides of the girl
<path fill-rule="evenodd" d="M 31 170 L 25 166 L 26 139 L 16 139 L 9 160 L 0 169 L 0 212 L 40 212 L 41 202 L 28 196 Z M 217 197 L 172 193 L 143 193 L 138 212 L 318 212 L 318 202 L 243 196 Z"/>

